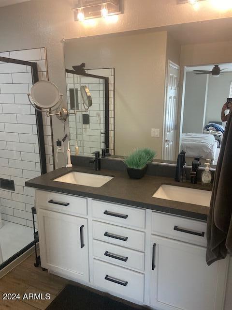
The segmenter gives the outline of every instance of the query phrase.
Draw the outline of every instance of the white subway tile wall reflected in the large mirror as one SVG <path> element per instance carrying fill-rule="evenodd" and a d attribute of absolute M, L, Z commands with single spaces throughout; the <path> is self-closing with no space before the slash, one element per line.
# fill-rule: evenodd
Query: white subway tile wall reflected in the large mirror
<path fill-rule="evenodd" d="M 110 154 L 114 155 L 114 89 L 115 89 L 115 69 L 88 69 L 86 73 L 109 78 L 109 147 Z M 68 108 L 70 105 L 70 89 L 77 88 L 78 96 L 76 102 L 79 103 L 78 109 L 83 109 L 80 94 L 80 86 L 86 85 L 89 88 L 92 97 L 92 107 L 84 114 L 89 115 L 89 124 L 82 123 L 82 113 L 69 116 L 71 152 L 75 154 L 76 140 L 78 141 L 79 152 L 82 155 L 90 155 L 94 151 L 101 151 L 104 147 L 104 135 L 102 132 L 105 128 L 104 117 L 104 80 L 99 78 L 83 77 L 66 73 L 67 84 L 67 101 Z M 77 98 L 76 98 L 77 99 Z"/>

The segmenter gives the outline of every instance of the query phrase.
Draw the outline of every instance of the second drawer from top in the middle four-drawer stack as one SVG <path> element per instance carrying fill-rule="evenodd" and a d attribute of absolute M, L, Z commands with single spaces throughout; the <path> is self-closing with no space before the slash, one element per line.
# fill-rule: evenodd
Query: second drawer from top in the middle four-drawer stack
<path fill-rule="evenodd" d="M 93 221 L 93 238 L 118 246 L 145 250 L 145 233 L 132 229 Z"/>

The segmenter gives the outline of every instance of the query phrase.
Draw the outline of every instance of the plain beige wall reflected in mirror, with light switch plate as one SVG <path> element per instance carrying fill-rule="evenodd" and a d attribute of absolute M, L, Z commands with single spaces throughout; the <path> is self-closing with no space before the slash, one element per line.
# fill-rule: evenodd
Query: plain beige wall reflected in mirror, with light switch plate
<path fill-rule="evenodd" d="M 65 42 L 67 68 L 115 68 L 115 154 L 150 147 L 161 158 L 166 31 L 132 31 Z M 160 128 L 160 138 L 151 137 Z"/>

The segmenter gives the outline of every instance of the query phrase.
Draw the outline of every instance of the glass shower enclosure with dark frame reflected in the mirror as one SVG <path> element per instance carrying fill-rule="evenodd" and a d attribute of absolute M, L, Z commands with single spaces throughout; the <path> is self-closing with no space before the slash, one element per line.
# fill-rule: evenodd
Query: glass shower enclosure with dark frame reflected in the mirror
<path fill-rule="evenodd" d="M 71 152 L 91 155 L 95 151 L 109 148 L 109 78 L 66 69 L 67 101 Z M 86 85 L 92 97 L 92 106 L 85 111 L 80 88 Z M 80 110 L 72 114 L 75 110 Z"/>

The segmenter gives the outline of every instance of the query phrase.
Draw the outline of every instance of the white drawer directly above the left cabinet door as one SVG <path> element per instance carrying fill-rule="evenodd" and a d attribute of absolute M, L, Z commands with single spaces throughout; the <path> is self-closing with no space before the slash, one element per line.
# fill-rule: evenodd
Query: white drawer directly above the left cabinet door
<path fill-rule="evenodd" d="M 36 204 L 52 211 L 87 216 L 87 198 L 83 197 L 37 190 Z"/>

